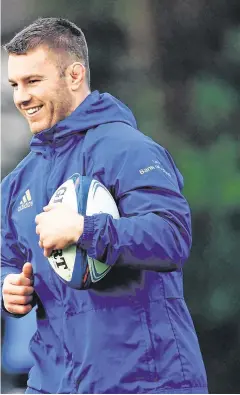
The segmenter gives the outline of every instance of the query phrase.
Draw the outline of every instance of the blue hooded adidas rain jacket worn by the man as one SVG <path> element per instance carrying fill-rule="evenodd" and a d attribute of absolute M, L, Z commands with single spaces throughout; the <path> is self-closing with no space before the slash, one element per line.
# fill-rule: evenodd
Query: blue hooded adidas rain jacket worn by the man
<path fill-rule="evenodd" d="M 113 268 L 80 291 L 53 272 L 34 222 L 73 173 L 101 181 L 121 215 L 85 218 L 80 245 Z M 33 136 L 31 152 L 2 183 L 2 280 L 26 261 L 34 269 L 33 391 L 207 392 L 183 297 L 191 223 L 182 187 L 169 153 L 109 94 L 94 91 L 68 118 Z"/>

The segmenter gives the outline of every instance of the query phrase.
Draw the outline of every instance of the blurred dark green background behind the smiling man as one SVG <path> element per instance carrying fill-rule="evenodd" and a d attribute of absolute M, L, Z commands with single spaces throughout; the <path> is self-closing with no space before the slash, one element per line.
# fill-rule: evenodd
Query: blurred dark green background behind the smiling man
<path fill-rule="evenodd" d="M 240 1 L 3 0 L 2 41 L 38 16 L 66 17 L 83 29 L 92 90 L 125 102 L 139 129 L 173 155 L 192 210 L 185 298 L 209 389 L 239 393 Z M 9 137 L 10 115 L 18 115 L 2 89 L 4 157 L 27 126 L 16 118 Z M 2 176 L 27 153 L 27 133 L 3 160 Z"/>

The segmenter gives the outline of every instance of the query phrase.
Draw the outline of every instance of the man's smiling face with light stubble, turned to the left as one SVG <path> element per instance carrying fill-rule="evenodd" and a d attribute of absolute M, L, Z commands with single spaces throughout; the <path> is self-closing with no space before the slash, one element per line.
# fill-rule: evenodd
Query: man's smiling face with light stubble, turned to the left
<path fill-rule="evenodd" d="M 8 76 L 14 103 L 34 134 L 52 127 L 76 107 L 70 79 L 61 76 L 57 56 L 47 47 L 10 54 Z"/>

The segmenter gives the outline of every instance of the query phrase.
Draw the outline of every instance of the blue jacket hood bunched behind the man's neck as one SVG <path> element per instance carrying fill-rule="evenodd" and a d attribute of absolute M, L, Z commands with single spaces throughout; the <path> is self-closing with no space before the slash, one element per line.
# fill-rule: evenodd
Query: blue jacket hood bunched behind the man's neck
<path fill-rule="evenodd" d="M 94 91 L 67 118 L 34 135 L 30 146 L 33 148 L 51 143 L 58 145 L 60 140 L 63 143 L 64 137 L 85 133 L 91 128 L 110 122 L 123 122 L 137 128 L 136 120 L 125 104 L 109 93 Z"/>

